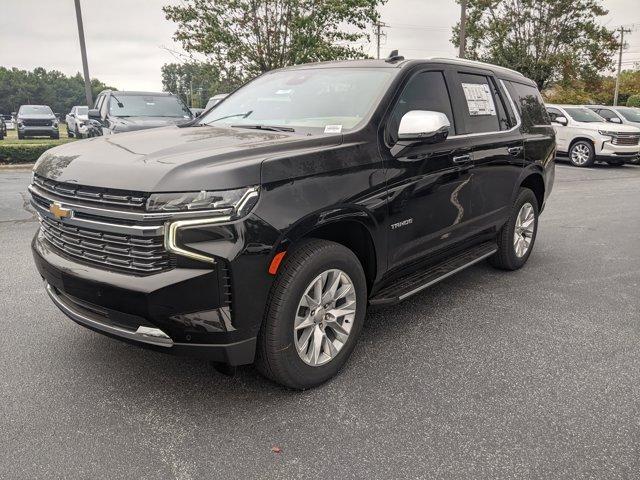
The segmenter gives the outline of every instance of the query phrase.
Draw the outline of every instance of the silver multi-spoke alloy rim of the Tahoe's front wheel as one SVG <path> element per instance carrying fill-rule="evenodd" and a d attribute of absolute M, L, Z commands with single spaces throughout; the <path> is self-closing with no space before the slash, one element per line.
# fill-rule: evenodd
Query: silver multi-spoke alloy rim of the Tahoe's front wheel
<path fill-rule="evenodd" d="M 307 286 L 298 303 L 293 338 L 307 365 L 319 366 L 338 355 L 356 316 L 356 291 L 342 270 L 322 272 Z"/>

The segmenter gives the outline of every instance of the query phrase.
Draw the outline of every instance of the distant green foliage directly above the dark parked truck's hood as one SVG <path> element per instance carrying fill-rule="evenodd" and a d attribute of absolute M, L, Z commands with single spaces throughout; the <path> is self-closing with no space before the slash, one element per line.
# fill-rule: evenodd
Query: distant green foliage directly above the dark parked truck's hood
<path fill-rule="evenodd" d="M 207 100 L 218 93 L 230 93 L 243 80 L 230 73 L 223 74 L 210 63 L 168 63 L 162 67 L 162 87 L 180 95 L 190 107 L 204 108 Z"/>

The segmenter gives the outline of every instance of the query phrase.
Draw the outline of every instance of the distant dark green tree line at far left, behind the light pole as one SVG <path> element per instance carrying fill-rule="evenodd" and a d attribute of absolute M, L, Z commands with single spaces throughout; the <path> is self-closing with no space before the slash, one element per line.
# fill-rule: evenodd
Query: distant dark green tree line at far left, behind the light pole
<path fill-rule="evenodd" d="M 91 80 L 94 98 L 107 87 L 97 79 Z M 32 72 L 0 67 L 0 112 L 16 112 L 20 105 L 49 105 L 64 116 L 74 105 L 87 103 L 84 80 L 77 73 L 68 77 L 57 70 L 35 68 Z"/>

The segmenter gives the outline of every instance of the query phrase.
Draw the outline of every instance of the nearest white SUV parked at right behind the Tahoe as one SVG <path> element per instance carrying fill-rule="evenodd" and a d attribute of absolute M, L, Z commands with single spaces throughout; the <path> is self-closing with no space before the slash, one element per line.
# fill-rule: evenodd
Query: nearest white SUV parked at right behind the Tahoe
<path fill-rule="evenodd" d="M 596 161 L 610 165 L 635 163 L 640 157 L 640 128 L 607 123 L 594 111 L 580 105 L 547 104 L 556 131 L 559 155 L 572 165 L 590 167 Z"/>

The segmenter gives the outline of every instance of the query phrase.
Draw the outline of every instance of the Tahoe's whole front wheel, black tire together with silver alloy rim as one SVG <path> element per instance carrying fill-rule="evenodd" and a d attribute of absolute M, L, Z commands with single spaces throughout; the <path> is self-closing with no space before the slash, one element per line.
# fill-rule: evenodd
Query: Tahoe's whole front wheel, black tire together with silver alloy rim
<path fill-rule="evenodd" d="M 333 281 L 339 277 L 338 293 L 343 291 L 348 293 L 346 297 L 335 302 L 335 307 L 342 308 L 344 311 L 355 305 L 354 313 L 337 316 L 335 321 L 327 321 L 326 324 L 317 323 L 318 317 L 324 320 L 334 317 L 328 313 L 325 315 L 322 306 L 318 314 L 311 315 L 316 311 L 315 307 L 303 305 L 315 305 L 312 302 L 312 297 L 318 298 L 315 293 L 305 297 L 309 300 L 303 299 L 303 296 L 313 291 L 310 289 L 317 279 L 320 278 L 319 282 L 322 284 L 323 273 L 327 273 L 324 280 L 326 285 L 333 284 Z M 354 296 L 351 296 L 352 293 Z M 256 367 L 264 376 L 289 388 L 304 390 L 322 384 L 335 376 L 347 362 L 362 330 L 366 307 L 366 279 L 362 265 L 354 253 L 338 243 L 317 239 L 306 240 L 287 252 L 271 288 L 265 318 L 258 336 Z M 337 312 L 335 308 L 326 310 L 326 312 L 331 311 Z M 294 326 L 299 325 L 303 318 L 305 318 L 303 323 L 310 322 L 311 326 L 304 329 L 298 327 L 299 330 L 294 332 Z M 346 339 L 342 333 L 337 333 L 337 330 L 333 330 L 331 326 L 338 323 L 340 319 L 342 321 L 340 329 L 343 332 L 345 328 L 349 330 Z M 306 336 L 305 342 L 308 329 L 311 329 L 312 333 Z M 316 336 L 320 329 L 321 333 L 318 335 L 326 335 L 326 338 Z M 340 342 L 340 338 L 344 343 Z M 316 350 L 312 347 L 318 339 L 320 353 L 314 355 Z M 331 351 L 331 345 L 327 342 L 331 342 L 334 349 L 336 346 L 339 347 L 337 351 Z M 304 345 L 308 348 L 304 348 Z M 299 347 L 302 353 L 298 353 Z M 303 356 L 307 353 L 309 358 L 303 360 Z M 315 365 L 312 364 L 314 361 Z"/>

